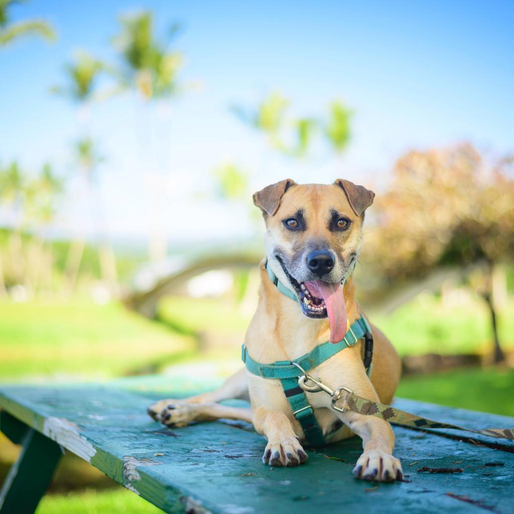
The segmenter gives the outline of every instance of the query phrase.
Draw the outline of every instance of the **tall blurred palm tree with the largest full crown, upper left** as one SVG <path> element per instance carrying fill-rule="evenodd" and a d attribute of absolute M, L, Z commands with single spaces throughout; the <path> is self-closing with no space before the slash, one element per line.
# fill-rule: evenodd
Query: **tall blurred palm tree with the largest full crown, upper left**
<path fill-rule="evenodd" d="M 155 144 L 150 142 L 145 148 L 145 135 L 155 131 L 157 123 L 152 119 L 151 105 L 155 101 L 169 100 L 183 90 L 178 82 L 178 72 L 182 67 L 180 52 L 170 49 L 179 27 L 172 25 L 166 36 L 158 40 L 154 34 L 154 18 L 151 11 L 140 11 L 120 17 L 120 31 L 113 39 L 119 53 L 121 68 L 116 78 L 122 89 L 132 89 L 137 98 L 143 101 L 145 111 L 143 123 L 138 126 L 140 167 L 144 173 L 144 182 L 148 186 L 150 203 L 149 253 L 154 262 L 166 257 L 166 234 L 162 228 L 160 212 L 162 188 L 159 186 L 157 170 L 157 151 Z M 170 124 L 167 124 L 169 130 Z M 155 141 L 157 138 L 153 138 Z M 143 156 L 145 150 L 150 155 Z M 162 171 L 162 170 L 161 170 Z M 163 173 L 160 173 L 162 176 Z"/>

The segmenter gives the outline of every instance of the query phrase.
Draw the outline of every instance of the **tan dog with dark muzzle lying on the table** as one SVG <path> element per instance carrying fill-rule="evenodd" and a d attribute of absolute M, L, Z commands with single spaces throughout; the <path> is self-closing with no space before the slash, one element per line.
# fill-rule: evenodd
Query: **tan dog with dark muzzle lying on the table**
<path fill-rule="evenodd" d="M 352 279 L 341 291 L 362 247 L 364 211 L 374 193 L 347 180 L 333 185 L 297 185 L 290 179 L 253 195 L 266 223 L 266 257 L 277 278 L 295 292 L 300 304 L 284 296 L 270 281 L 266 260 L 261 265 L 259 305 L 246 333 L 248 354 L 262 363 L 290 361 L 316 345 L 337 342 L 357 319 Z M 307 293 L 306 293 L 307 292 Z M 334 293 L 334 294 L 332 294 Z M 344 298 L 344 300 L 343 300 Z M 346 386 L 355 394 L 390 403 L 400 377 L 400 361 L 391 343 L 372 325 L 373 371 L 366 375 L 362 343 L 345 348 L 309 373 L 332 389 Z M 251 409 L 217 403 L 248 398 Z M 362 438 L 363 453 L 354 475 L 364 480 L 401 480 L 400 462 L 393 457 L 394 434 L 387 421 L 356 412 L 336 412 L 324 393 L 306 393 L 328 442 Z M 300 440 L 303 430 L 293 416 L 280 380 L 236 373 L 212 393 L 182 400 L 162 400 L 149 408 L 166 426 L 219 418 L 243 419 L 268 439 L 263 461 L 272 466 L 296 466 L 307 454 Z M 334 429 L 338 430 L 334 432 Z"/>

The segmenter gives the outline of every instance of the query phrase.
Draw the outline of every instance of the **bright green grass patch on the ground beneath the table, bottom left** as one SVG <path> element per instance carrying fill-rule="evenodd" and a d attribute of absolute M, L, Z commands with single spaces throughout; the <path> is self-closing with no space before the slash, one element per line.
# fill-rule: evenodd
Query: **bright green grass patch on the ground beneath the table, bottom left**
<path fill-rule="evenodd" d="M 46 495 L 36 514 L 157 514 L 162 510 L 121 486 L 108 491 L 70 492 L 66 495 Z"/>

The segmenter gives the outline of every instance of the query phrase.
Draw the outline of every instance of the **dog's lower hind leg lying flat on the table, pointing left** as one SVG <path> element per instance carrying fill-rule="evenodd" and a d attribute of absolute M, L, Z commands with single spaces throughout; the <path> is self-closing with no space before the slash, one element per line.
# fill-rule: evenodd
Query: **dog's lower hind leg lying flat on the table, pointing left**
<path fill-rule="evenodd" d="M 192 421 L 214 421 L 216 419 L 242 419 L 252 422 L 252 410 L 228 407 L 221 403 L 177 403 L 170 404 L 161 415 L 161 423 L 167 427 L 185 427 Z"/>

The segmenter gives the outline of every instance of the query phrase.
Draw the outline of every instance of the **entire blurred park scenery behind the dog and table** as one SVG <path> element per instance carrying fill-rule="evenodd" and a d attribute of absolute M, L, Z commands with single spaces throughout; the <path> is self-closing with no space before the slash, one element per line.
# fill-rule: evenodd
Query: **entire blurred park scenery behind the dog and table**
<path fill-rule="evenodd" d="M 251 194 L 342 177 L 377 193 L 355 280 L 398 396 L 513 415 L 513 22 L 0 0 L 0 381 L 216 384 L 256 305 Z M 0 439 L 0 480 L 16 453 Z M 66 456 L 38 512 L 124 510 L 156 511 Z"/>

